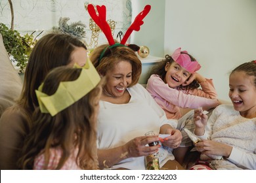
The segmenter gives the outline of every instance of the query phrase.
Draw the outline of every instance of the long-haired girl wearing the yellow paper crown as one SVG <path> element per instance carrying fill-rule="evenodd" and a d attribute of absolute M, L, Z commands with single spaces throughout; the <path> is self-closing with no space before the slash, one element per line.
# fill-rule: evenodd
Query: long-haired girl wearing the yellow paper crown
<path fill-rule="evenodd" d="M 89 69 L 53 69 L 36 91 L 39 107 L 24 143 L 21 169 L 98 169 L 96 115 L 100 76 Z"/>

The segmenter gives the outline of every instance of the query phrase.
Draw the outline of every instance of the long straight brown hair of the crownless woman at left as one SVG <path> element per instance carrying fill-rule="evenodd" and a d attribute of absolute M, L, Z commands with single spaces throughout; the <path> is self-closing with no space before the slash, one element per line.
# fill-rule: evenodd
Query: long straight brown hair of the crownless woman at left
<path fill-rule="evenodd" d="M 70 56 L 75 47 L 87 49 L 83 42 L 62 33 L 49 33 L 37 41 L 28 59 L 22 93 L 17 102 L 28 112 L 28 116 L 38 106 L 35 89 L 51 69 L 71 62 Z"/>

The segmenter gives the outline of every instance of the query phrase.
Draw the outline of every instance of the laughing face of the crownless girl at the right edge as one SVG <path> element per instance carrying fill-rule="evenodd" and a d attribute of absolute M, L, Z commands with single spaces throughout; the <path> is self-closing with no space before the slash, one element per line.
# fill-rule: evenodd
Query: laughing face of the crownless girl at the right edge
<path fill-rule="evenodd" d="M 240 111 L 241 116 L 247 117 L 256 113 L 255 76 L 248 76 L 244 71 L 232 73 L 229 76 L 229 97 L 234 109 Z"/>

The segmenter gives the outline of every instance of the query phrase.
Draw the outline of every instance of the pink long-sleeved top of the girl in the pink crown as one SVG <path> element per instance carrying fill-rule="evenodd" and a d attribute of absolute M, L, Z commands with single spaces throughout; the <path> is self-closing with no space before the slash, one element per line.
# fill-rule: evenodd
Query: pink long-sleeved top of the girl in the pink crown
<path fill-rule="evenodd" d="M 148 79 L 146 90 L 152 95 L 156 103 L 160 105 L 168 119 L 181 118 L 181 108 L 209 107 L 219 104 L 215 98 L 217 92 L 212 80 L 207 79 L 200 83 L 201 89 L 195 90 L 176 90 L 170 88 L 161 80 L 160 76 L 152 75 Z"/>

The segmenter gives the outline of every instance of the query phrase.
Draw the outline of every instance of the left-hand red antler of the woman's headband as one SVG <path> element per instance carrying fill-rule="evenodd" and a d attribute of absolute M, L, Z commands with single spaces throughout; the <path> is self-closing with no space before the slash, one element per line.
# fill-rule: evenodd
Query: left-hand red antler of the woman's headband
<path fill-rule="evenodd" d="M 104 5 L 102 5 L 101 7 L 96 5 L 98 15 L 96 14 L 95 7 L 92 4 L 89 4 L 87 8 L 91 18 L 95 21 L 98 27 L 100 27 L 100 29 L 106 36 L 106 39 L 108 39 L 108 43 L 110 45 L 115 44 L 111 29 L 110 29 L 110 25 L 108 25 L 108 22 L 106 22 L 106 7 Z"/>

